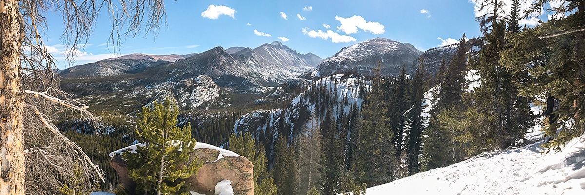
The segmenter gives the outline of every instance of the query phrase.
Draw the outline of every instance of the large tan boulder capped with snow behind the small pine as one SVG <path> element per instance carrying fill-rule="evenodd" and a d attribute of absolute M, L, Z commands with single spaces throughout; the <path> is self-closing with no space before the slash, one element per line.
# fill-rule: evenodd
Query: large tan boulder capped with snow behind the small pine
<path fill-rule="evenodd" d="M 110 153 L 110 165 L 120 176 L 122 185 L 130 193 L 134 193 L 136 183 L 128 177 L 126 160 L 122 158 L 122 152 L 133 151 L 139 144 L 128 146 Z M 253 195 L 254 182 L 252 176 L 252 163 L 243 156 L 230 150 L 212 146 L 207 143 L 197 142 L 195 152 L 190 159 L 197 157 L 203 160 L 203 166 L 197 175 L 192 175 L 187 180 L 190 182 L 191 191 L 201 194 L 214 195 L 215 186 L 222 180 L 229 180 L 235 195 Z"/>

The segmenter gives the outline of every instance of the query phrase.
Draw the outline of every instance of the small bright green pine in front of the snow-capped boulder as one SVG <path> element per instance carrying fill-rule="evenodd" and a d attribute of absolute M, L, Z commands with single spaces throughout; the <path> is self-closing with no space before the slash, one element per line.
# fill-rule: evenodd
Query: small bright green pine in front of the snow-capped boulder
<path fill-rule="evenodd" d="M 164 102 L 154 102 L 152 107 L 143 107 L 138 114 L 135 153 L 124 152 L 128 162 L 130 179 L 138 186 L 137 192 L 144 194 L 188 194 L 181 189 L 183 179 L 197 174 L 202 162 L 188 161 L 194 150 L 195 139 L 191 138 L 191 126 L 177 126 L 178 107 L 168 97 Z"/>

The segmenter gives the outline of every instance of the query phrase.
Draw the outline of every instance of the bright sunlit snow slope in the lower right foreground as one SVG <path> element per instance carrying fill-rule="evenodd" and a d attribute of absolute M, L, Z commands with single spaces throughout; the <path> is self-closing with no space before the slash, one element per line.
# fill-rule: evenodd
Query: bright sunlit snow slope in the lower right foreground
<path fill-rule="evenodd" d="M 585 194 L 585 134 L 549 153 L 540 147 L 539 131 L 527 138 L 536 142 L 370 187 L 366 194 Z"/>

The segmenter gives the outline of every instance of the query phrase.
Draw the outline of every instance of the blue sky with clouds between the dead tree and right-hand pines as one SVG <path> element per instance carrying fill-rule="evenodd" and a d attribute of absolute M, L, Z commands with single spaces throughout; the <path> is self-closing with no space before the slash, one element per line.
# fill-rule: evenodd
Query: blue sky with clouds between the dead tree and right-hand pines
<path fill-rule="evenodd" d="M 476 1 L 476 0 L 473 0 Z M 363 1 L 165 1 L 166 27 L 123 39 L 120 50 L 108 44 L 109 16 L 97 20 L 75 64 L 64 62 L 63 19 L 49 13 L 45 43 L 60 69 L 130 53 L 201 53 L 216 46 L 251 47 L 283 42 L 301 54 L 325 59 L 342 47 L 375 37 L 411 43 L 419 50 L 453 43 L 463 33 L 480 35 L 476 11 L 467 0 Z M 284 13 L 284 14 L 283 14 Z M 284 18 L 286 15 L 286 18 Z M 270 35 L 270 36 L 269 36 Z M 279 38 L 280 37 L 280 38 Z M 284 42 L 286 40 L 286 42 Z"/>

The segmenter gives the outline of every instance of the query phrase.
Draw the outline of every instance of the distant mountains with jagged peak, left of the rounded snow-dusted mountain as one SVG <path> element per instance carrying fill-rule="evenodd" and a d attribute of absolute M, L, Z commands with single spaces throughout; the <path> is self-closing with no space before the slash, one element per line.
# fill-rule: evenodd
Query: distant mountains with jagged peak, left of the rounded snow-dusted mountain
<path fill-rule="evenodd" d="M 75 98 L 90 104 L 101 104 L 104 109 L 109 107 L 104 104 L 139 108 L 166 95 L 181 102 L 191 102 L 181 104 L 184 110 L 226 107 L 229 102 L 218 104 L 204 101 L 231 101 L 229 95 L 222 91 L 264 93 L 314 69 L 323 61 L 315 54 L 300 54 L 280 42 L 264 44 L 256 49 L 231 47 L 228 50 L 215 47 L 198 54 L 130 54 L 102 60 L 62 70 L 61 87 L 72 92 Z M 199 77 L 201 75 L 208 77 Z M 187 85 L 193 89 L 187 92 L 178 87 Z M 201 91 L 212 91 L 217 98 L 185 95 Z"/>

